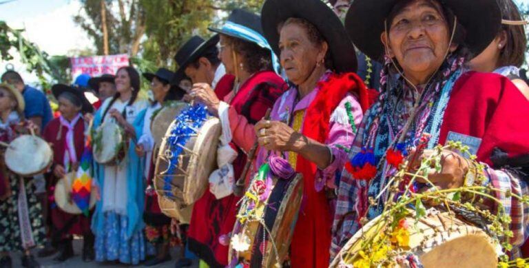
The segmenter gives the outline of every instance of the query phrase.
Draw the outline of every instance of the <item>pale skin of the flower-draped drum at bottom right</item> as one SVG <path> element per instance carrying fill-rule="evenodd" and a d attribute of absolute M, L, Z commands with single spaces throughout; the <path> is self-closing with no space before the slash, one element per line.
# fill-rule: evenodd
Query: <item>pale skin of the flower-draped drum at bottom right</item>
<path fill-rule="evenodd" d="M 479 227 L 469 225 L 447 212 L 420 218 L 415 227 L 414 216 L 406 218 L 410 228 L 409 247 L 424 267 L 484 267 L 498 265 L 495 242 Z M 362 228 L 342 248 L 330 267 L 346 267 L 344 255 L 360 250 L 362 235 L 377 228 L 375 218 Z"/>

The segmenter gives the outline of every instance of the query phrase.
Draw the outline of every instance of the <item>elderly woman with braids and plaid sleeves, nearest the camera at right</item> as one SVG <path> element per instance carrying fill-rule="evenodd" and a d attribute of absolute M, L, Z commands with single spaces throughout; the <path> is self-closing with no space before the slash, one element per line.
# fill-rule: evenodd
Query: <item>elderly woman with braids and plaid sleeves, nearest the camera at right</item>
<path fill-rule="evenodd" d="M 381 194 L 388 177 L 397 168 L 386 161 L 388 150 L 413 148 L 424 133 L 431 135 L 428 150 L 437 144 L 461 141 L 477 154 L 473 161 L 450 151 L 442 152 L 440 170 L 428 179 L 440 189 L 453 189 L 484 174 L 484 183 L 516 194 L 525 193 L 525 183 L 508 169 L 493 169 L 492 150 L 511 155 L 528 152 L 529 105 L 509 79 L 498 74 L 465 72 L 469 54 L 481 53 L 496 37 L 501 15 L 496 0 L 356 0 L 346 17 L 353 43 L 367 56 L 385 56 L 381 96 L 364 116 L 351 149 L 351 156 L 374 154 L 373 172 L 357 172 L 353 166 L 342 174 L 333 224 L 334 255 L 360 228 L 366 218 L 382 213 Z M 400 75 L 395 83 L 389 76 Z M 364 148 L 360 152 L 360 148 Z M 401 149 L 399 149 L 401 148 Z M 414 154 L 415 155 L 415 154 Z M 469 163 L 473 167 L 470 168 Z M 352 172 L 352 173 L 351 173 Z M 431 187 L 432 185 L 428 185 Z M 523 189 L 523 191 L 522 191 Z M 384 192 L 385 193 L 385 192 Z M 526 214 L 519 200 L 492 192 L 512 216 L 511 243 L 523 243 Z M 369 199 L 374 198 L 369 202 Z M 488 206 L 495 211 L 496 206 Z"/>

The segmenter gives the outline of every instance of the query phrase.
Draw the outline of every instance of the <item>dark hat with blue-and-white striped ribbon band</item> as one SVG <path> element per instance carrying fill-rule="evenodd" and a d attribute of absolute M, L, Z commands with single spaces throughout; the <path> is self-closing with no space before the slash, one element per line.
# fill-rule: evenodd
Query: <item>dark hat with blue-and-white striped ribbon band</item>
<path fill-rule="evenodd" d="M 236 8 L 233 11 L 231 11 L 226 21 L 226 24 L 228 23 L 233 23 L 236 25 L 244 26 L 245 28 L 249 28 L 250 30 L 253 30 L 254 32 L 257 32 L 258 34 L 262 35 L 260 16 L 258 14 L 254 14 L 247 10 Z M 234 31 L 228 30 L 226 28 L 226 24 L 223 25 L 222 28 L 209 27 L 207 29 L 210 30 L 211 32 L 225 34 L 229 37 L 235 37 L 238 39 L 243 39 L 245 41 L 254 42 L 252 39 L 245 39 L 244 34 L 240 34 L 240 32 L 234 32 Z"/>

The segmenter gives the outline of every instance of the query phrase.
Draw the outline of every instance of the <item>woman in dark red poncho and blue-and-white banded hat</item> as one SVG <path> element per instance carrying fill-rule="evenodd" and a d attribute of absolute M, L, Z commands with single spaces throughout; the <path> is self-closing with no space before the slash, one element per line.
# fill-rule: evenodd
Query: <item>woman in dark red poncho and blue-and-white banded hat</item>
<path fill-rule="evenodd" d="M 248 136 L 244 136 L 239 127 L 252 128 L 264 116 L 283 92 L 284 81 L 273 72 L 272 52 L 261 35 L 258 15 L 234 10 L 222 28 L 210 30 L 220 34 L 220 60 L 227 75 L 236 78 L 234 84 L 229 85 L 231 92 L 224 101 L 220 101 L 204 83 L 194 84 L 190 96 L 219 116 L 223 132 L 221 141 L 225 143 L 222 150 L 234 156 L 234 160 L 227 161 L 227 166 L 233 170 L 227 176 L 238 178 L 247 161 L 245 152 L 251 147 L 246 142 Z M 217 84 L 216 91 L 225 92 L 225 88 L 219 88 L 222 86 L 226 84 Z M 189 225 L 189 249 L 212 267 L 228 264 L 229 235 L 240 200 L 231 194 L 231 187 L 228 188 L 210 188 L 195 203 Z"/>

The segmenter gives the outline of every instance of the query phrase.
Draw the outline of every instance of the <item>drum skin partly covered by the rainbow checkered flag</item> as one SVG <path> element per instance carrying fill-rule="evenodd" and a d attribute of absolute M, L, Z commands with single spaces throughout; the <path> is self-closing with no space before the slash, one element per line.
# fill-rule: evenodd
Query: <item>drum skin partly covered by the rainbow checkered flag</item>
<path fill-rule="evenodd" d="M 72 183 L 75 181 L 76 174 L 75 172 L 70 172 L 61 178 L 55 185 L 54 198 L 55 203 L 59 209 L 69 214 L 81 214 L 81 209 L 75 205 L 75 203 L 70 199 L 70 193 L 72 192 Z M 90 209 L 96 205 L 96 192 L 90 192 Z"/>

